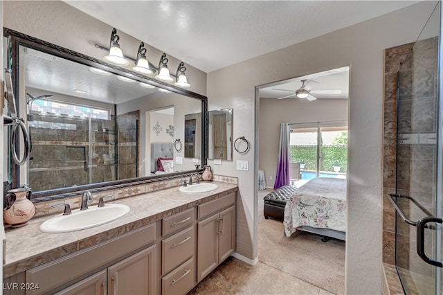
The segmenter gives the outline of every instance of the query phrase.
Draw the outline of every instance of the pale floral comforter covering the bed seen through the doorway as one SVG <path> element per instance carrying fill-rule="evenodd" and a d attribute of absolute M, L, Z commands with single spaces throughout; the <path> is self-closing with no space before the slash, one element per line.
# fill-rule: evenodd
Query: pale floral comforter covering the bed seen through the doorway
<path fill-rule="evenodd" d="M 296 190 L 284 206 L 284 234 L 298 226 L 346 231 L 346 179 L 318 177 Z"/>

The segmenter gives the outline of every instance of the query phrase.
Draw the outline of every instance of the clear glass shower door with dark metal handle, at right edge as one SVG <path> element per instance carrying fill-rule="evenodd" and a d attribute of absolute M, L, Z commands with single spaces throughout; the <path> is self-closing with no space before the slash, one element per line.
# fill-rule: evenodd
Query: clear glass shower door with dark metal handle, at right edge
<path fill-rule="evenodd" d="M 395 266 L 405 294 L 442 294 L 440 3 L 397 73 Z"/>

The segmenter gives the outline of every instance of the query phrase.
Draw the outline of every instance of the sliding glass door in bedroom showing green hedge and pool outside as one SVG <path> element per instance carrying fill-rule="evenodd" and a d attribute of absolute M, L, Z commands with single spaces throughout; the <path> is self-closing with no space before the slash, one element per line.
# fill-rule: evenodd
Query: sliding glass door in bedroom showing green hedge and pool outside
<path fill-rule="evenodd" d="M 347 121 L 291 124 L 291 183 L 314 177 L 346 178 Z"/>

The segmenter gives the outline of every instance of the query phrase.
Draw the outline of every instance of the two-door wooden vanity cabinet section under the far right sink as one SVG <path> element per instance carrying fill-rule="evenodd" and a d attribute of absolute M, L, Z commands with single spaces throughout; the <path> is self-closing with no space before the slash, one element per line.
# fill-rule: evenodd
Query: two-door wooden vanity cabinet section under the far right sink
<path fill-rule="evenodd" d="M 235 251 L 235 194 L 199 206 L 197 233 L 198 283 Z"/>

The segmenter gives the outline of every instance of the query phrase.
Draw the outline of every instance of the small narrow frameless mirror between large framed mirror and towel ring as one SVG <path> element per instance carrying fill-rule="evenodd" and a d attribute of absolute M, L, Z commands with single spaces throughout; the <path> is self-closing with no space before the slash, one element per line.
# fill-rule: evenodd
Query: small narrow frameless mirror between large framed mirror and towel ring
<path fill-rule="evenodd" d="M 208 112 L 208 159 L 233 161 L 233 109 Z"/>

